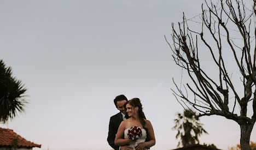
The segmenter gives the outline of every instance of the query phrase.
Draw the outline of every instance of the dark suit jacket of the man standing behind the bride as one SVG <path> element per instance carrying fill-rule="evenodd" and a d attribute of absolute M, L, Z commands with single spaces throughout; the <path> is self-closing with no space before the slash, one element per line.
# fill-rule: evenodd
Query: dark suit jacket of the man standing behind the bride
<path fill-rule="evenodd" d="M 123 121 L 123 116 L 121 112 L 110 117 L 109 127 L 108 127 L 108 144 L 115 150 L 119 150 L 119 146 L 115 145 L 115 135 L 117 134 L 120 123 Z"/>

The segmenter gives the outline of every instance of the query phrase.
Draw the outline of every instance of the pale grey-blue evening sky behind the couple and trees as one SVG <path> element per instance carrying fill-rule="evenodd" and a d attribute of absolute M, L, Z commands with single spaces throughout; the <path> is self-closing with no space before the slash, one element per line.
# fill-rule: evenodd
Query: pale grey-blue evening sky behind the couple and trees
<path fill-rule="evenodd" d="M 173 119 L 183 107 L 171 91 L 172 79 L 188 79 L 164 35 L 171 40 L 172 22 L 181 22 L 183 12 L 188 18 L 200 14 L 202 3 L 0 1 L 0 59 L 24 83 L 29 102 L 25 113 L 0 127 L 40 149 L 111 149 L 109 118 L 119 112 L 113 99 L 124 94 L 141 99 L 155 132 L 150 149 L 176 148 Z M 240 143 L 236 122 L 218 116 L 200 120 L 209 133 L 200 143 L 220 149 Z"/>

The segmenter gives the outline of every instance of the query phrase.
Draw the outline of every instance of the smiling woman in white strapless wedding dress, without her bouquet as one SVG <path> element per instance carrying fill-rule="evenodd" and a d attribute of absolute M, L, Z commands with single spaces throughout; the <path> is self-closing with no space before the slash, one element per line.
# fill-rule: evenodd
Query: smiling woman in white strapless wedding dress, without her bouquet
<path fill-rule="evenodd" d="M 155 145 L 155 135 L 152 124 L 144 119 L 142 104 L 138 98 L 127 101 L 124 105 L 127 115 L 130 118 L 121 122 L 118 128 L 117 136 L 115 136 L 115 145 L 128 145 L 135 150 L 145 150 Z M 142 135 L 137 140 L 131 140 L 128 137 L 128 130 L 136 125 L 141 127 Z M 147 139 L 147 141 L 146 141 Z"/>

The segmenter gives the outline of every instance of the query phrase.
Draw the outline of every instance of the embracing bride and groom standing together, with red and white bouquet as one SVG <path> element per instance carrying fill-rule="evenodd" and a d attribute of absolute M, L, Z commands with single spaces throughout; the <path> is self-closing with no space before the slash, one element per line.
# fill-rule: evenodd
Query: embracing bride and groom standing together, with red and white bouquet
<path fill-rule="evenodd" d="M 145 150 L 154 146 L 154 130 L 142 111 L 141 100 L 118 95 L 114 104 L 120 112 L 110 117 L 109 145 L 115 150 Z"/>

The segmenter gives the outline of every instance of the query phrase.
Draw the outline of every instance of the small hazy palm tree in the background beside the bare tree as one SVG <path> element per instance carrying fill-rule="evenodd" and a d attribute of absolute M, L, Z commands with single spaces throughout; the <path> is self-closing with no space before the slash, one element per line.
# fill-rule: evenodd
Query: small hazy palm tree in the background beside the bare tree
<path fill-rule="evenodd" d="M 177 119 L 174 119 L 174 127 L 172 129 L 178 130 L 176 139 L 180 139 L 178 146 L 189 146 L 196 142 L 199 143 L 198 137 L 203 133 L 208 134 L 199 121 L 199 118 L 195 117 L 195 112 L 187 109 L 183 114 L 177 113 Z M 177 146 L 177 147 L 178 147 Z"/>

